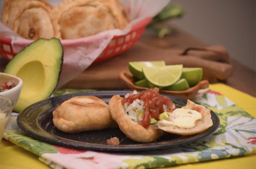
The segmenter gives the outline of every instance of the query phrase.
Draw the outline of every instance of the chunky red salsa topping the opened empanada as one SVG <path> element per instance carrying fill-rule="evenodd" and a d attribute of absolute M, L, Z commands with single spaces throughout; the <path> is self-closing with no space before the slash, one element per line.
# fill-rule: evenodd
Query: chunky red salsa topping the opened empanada
<path fill-rule="evenodd" d="M 172 102 L 169 97 L 164 97 L 159 94 L 159 89 L 148 89 L 141 91 L 139 94 L 130 95 L 129 97 L 122 99 L 121 103 L 132 103 L 136 99 L 141 99 L 144 101 L 144 112 L 142 115 L 142 120 L 138 121 L 138 124 L 142 125 L 144 128 L 148 128 L 150 124 L 150 117 L 155 120 L 159 120 L 159 115 L 164 111 L 172 112 L 176 108 L 176 105 Z"/>

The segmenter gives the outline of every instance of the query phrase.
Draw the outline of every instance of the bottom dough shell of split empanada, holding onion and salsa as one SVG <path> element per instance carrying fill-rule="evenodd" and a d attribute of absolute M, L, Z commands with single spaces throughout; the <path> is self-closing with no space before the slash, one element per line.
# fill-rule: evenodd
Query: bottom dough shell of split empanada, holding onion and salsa
<path fill-rule="evenodd" d="M 164 134 L 162 130 L 150 125 L 144 128 L 137 122 L 133 122 L 124 111 L 120 95 L 114 95 L 109 101 L 111 116 L 118 123 L 120 130 L 130 139 L 137 142 L 153 142 Z"/>

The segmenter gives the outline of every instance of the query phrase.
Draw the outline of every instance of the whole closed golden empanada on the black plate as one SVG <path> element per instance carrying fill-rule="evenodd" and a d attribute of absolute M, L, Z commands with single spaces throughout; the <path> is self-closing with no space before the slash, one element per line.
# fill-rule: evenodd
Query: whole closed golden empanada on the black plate
<path fill-rule="evenodd" d="M 95 96 L 77 96 L 59 105 L 52 112 L 53 124 L 67 133 L 101 130 L 114 127 L 109 106 Z"/>

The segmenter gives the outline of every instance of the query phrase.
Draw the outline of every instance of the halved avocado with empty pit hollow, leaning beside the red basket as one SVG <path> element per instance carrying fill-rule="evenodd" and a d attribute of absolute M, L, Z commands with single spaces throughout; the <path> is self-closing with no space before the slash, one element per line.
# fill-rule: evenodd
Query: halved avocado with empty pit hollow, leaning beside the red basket
<path fill-rule="evenodd" d="M 63 47 L 56 38 L 38 39 L 26 46 L 7 64 L 4 73 L 23 80 L 14 111 L 50 97 L 59 81 L 63 64 Z"/>

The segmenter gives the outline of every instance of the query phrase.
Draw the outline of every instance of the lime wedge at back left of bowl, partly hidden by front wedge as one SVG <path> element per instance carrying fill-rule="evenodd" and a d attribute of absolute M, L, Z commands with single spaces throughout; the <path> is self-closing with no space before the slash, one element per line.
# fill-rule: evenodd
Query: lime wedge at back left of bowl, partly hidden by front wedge
<path fill-rule="evenodd" d="M 153 62 L 129 62 L 129 70 L 132 73 L 133 76 L 135 76 L 138 79 L 145 79 L 145 76 L 142 72 L 142 69 L 145 67 L 151 67 L 151 66 L 165 66 L 164 61 L 153 61 Z"/>

